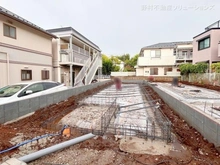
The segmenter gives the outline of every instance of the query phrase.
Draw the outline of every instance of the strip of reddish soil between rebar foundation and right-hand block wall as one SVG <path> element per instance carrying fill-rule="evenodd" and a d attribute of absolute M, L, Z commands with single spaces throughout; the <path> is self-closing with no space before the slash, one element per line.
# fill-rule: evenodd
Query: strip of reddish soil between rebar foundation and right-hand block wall
<path fill-rule="evenodd" d="M 152 95 L 153 99 L 159 98 L 158 94 L 150 87 L 147 87 L 147 90 L 154 93 Z M 178 140 L 191 151 L 191 164 L 220 164 L 219 152 L 213 144 L 209 143 L 199 132 L 190 127 L 169 106 L 162 105 L 162 110 L 172 122 L 173 132 L 177 135 Z"/>

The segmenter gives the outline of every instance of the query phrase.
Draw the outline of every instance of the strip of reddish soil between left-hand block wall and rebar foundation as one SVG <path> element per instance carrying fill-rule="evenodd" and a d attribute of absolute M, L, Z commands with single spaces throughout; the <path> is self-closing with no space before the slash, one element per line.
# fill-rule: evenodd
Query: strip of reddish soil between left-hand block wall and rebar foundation
<path fill-rule="evenodd" d="M 0 151 L 12 147 L 10 140 L 16 136 L 16 134 L 23 133 L 25 139 L 32 139 L 36 136 L 44 135 L 47 133 L 55 133 L 61 128 L 57 127 L 57 123 L 60 119 L 71 112 L 77 107 L 77 102 L 83 99 L 85 96 L 96 93 L 99 90 L 102 90 L 109 86 L 112 83 L 99 86 L 96 89 L 89 90 L 85 93 L 82 93 L 78 96 L 73 96 L 66 101 L 60 102 L 59 104 L 54 104 L 46 108 L 37 110 L 33 115 L 28 116 L 24 119 L 16 121 L 7 125 L 0 125 Z M 76 135 L 72 135 L 74 137 Z M 53 145 L 57 142 L 64 141 L 66 139 L 56 136 L 53 143 L 48 145 Z M 41 147 L 39 147 L 40 149 Z M 7 153 L 0 154 L 0 162 L 3 157 L 11 156 L 18 152 L 18 149 L 9 151 Z"/>

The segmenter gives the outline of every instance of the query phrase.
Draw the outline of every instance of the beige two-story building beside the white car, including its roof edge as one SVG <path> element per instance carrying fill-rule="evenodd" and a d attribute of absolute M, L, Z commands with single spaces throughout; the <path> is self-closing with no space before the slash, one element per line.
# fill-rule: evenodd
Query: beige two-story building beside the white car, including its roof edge
<path fill-rule="evenodd" d="M 56 36 L 0 6 L 0 87 L 52 80 Z"/>

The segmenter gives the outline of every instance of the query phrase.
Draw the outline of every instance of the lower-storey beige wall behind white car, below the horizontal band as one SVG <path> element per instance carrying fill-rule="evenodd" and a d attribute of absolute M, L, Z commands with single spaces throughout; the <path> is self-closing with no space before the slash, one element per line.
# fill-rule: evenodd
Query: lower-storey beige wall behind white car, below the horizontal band
<path fill-rule="evenodd" d="M 32 80 L 30 81 L 42 80 L 41 70 L 49 70 L 50 78 L 48 80 L 52 80 L 52 57 L 1 46 L 0 51 L 2 76 L 0 87 L 24 82 L 21 80 L 22 69 L 32 70 Z M 7 60 L 7 55 L 9 61 Z"/>

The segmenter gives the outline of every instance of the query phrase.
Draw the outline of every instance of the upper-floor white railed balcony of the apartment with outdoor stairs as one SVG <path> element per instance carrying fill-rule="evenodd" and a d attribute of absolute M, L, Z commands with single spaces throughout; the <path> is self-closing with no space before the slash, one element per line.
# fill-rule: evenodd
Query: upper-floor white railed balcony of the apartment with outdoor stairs
<path fill-rule="evenodd" d="M 69 44 L 60 45 L 60 64 L 61 65 L 79 65 L 83 66 L 90 58 L 89 52 L 76 45 L 72 45 L 70 49 Z"/>

